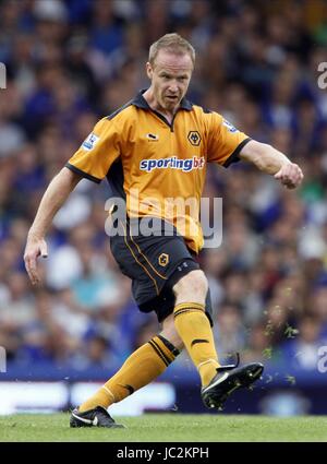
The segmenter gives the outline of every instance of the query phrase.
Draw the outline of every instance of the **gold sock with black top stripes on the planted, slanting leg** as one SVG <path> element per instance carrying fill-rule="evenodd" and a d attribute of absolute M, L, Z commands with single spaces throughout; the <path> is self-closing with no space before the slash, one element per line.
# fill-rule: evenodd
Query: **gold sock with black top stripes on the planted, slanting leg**
<path fill-rule="evenodd" d="M 78 411 L 83 413 L 96 406 L 107 409 L 110 404 L 122 401 L 160 376 L 178 354 L 179 350 L 164 336 L 154 336 L 132 353 L 120 370 L 84 402 Z"/>

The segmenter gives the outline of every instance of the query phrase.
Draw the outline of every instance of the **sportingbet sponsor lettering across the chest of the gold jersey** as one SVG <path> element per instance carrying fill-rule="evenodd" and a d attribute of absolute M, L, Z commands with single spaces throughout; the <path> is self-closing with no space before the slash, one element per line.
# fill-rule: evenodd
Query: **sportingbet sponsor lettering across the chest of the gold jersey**
<path fill-rule="evenodd" d="M 193 169 L 203 169 L 205 158 L 202 156 L 193 156 L 193 158 L 180 159 L 177 156 L 161 159 L 142 159 L 140 162 L 140 169 L 152 172 L 154 169 L 180 169 L 183 172 L 190 172 Z"/>

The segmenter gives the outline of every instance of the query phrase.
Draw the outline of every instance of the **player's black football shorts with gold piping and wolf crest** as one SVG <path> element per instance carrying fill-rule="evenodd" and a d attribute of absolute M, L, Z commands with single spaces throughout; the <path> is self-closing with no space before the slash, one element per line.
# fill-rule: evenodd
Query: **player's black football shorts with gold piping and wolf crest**
<path fill-rule="evenodd" d="M 198 270 L 199 265 L 173 226 L 169 225 L 169 235 L 165 235 L 162 230 L 167 223 L 158 218 L 152 221 L 150 228 L 156 235 L 145 236 L 134 233 L 138 219 L 128 223 L 118 219 L 119 235 L 110 237 L 110 248 L 121 272 L 132 279 L 132 293 L 140 310 L 155 311 L 161 322 L 173 312 L 174 284 L 189 272 Z M 205 309 L 213 325 L 209 292 Z"/>

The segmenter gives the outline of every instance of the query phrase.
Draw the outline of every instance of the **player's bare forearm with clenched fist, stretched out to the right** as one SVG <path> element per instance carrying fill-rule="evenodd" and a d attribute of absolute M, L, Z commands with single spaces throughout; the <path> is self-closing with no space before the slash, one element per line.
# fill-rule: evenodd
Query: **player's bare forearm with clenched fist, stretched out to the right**
<path fill-rule="evenodd" d="M 302 182 L 302 169 L 266 143 L 251 140 L 242 147 L 239 157 L 254 164 L 263 172 L 270 174 L 288 189 L 295 189 Z"/>

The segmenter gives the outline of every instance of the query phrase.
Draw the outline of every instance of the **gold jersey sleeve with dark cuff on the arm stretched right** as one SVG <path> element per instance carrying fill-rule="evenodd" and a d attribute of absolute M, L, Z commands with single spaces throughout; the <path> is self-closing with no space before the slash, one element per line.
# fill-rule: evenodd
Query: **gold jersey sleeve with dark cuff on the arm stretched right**
<path fill-rule="evenodd" d="M 239 153 L 251 138 L 234 128 L 218 112 L 211 112 L 209 116 L 208 163 L 228 167 L 240 160 Z"/>

